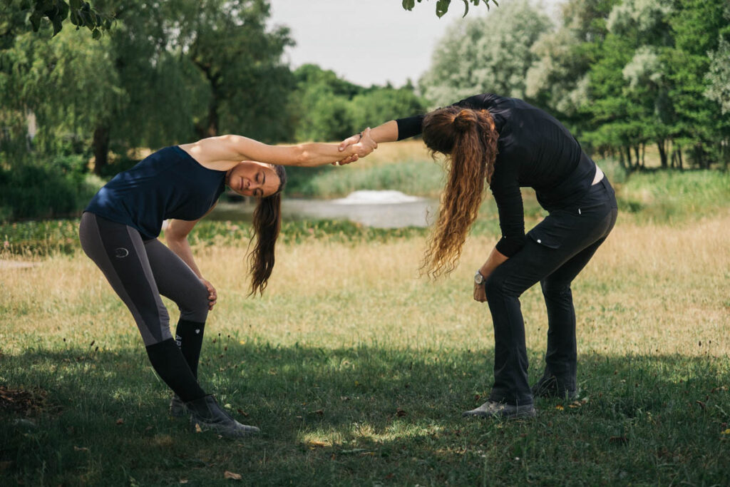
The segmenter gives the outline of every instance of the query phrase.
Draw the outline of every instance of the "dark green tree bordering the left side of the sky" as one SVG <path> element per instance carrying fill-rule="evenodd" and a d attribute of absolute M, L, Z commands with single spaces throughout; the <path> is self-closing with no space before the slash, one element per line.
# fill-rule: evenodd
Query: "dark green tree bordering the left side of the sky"
<path fill-rule="evenodd" d="M 196 120 L 198 136 L 233 131 L 269 142 L 291 137 L 285 109 L 294 80 L 281 56 L 293 41 L 288 28 L 267 30 L 269 3 L 181 3 L 179 49 L 209 87 L 207 112 Z"/>

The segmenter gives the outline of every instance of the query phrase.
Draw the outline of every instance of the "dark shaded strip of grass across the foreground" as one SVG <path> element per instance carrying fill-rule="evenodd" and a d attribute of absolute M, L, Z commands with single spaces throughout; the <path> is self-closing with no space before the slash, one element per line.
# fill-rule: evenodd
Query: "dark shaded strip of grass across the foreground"
<path fill-rule="evenodd" d="M 0 413 L 0 478 L 26 485 L 472 485 L 726 480 L 730 359 L 580 357 L 577 402 L 531 421 L 464 420 L 485 401 L 492 350 L 206 342 L 204 388 L 262 434 L 221 440 L 166 415 L 144 350 L 28 350 L 7 388 L 48 410 Z M 539 357 L 531 356 L 531 375 Z M 28 421 L 18 421 L 19 419 Z M 3 482 L 5 484 L 5 482 Z"/>

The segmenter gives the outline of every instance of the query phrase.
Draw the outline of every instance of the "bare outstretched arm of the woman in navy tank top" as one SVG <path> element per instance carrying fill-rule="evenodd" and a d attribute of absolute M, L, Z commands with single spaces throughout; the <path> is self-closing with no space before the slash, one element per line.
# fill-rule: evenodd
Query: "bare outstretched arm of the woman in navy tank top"
<path fill-rule="evenodd" d="M 337 144 L 310 142 L 299 145 L 268 145 L 240 135 L 222 135 L 180 146 L 196 161 L 211 169 L 226 170 L 240 161 L 258 161 L 280 166 L 321 166 L 339 161 L 343 153 Z M 347 147 L 344 157 L 364 157 L 377 148 L 365 129 L 357 143 Z"/>

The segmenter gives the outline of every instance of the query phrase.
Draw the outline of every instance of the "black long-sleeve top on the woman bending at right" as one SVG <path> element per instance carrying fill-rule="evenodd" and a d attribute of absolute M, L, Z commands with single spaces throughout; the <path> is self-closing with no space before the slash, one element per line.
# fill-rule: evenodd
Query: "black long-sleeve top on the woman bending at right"
<path fill-rule="evenodd" d="M 488 110 L 494 119 L 499 153 L 490 188 L 502 230 L 496 248 L 504 256 L 513 256 L 526 238 L 520 187 L 534 188 L 545 210 L 569 207 L 591 187 L 596 164 L 558 120 L 525 101 L 484 93 L 454 105 Z M 420 134 L 424 117 L 396 120 L 398 139 Z"/>

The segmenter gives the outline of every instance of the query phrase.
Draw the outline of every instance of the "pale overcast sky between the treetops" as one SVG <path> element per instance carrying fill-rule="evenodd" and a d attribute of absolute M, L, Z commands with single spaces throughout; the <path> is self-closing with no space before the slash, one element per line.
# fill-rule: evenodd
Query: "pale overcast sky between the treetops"
<path fill-rule="evenodd" d="M 411 12 L 401 7 L 401 0 L 269 1 L 271 23 L 291 28 L 296 41 L 286 53 L 293 68 L 318 64 L 364 86 L 388 81 L 401 86 L 408 78 L 415 83 L 429 68 L 445 28 L 464 14 L 463 2 L 456 0 L 440 19 L 436 0 L 423 0 Z M 543 0 L 550 9 L 557 2 Z M 472 5 L 466 19 L 477 15 L 488 15 L 483 4 Z"/>

